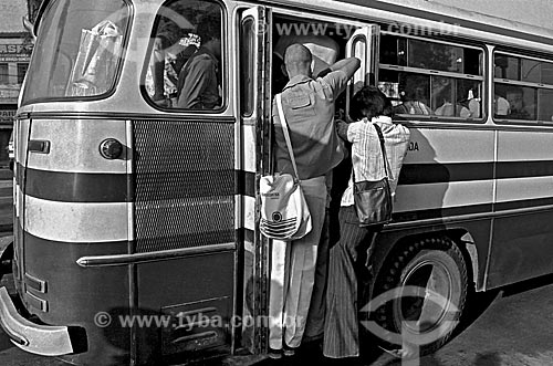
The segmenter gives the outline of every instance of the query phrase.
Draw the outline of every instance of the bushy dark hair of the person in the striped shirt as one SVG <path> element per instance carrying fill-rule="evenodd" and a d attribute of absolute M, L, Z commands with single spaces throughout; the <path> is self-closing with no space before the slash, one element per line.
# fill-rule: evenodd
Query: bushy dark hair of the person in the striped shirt
<path fill-rule="evenodd" d="M 349 117 L 354 121 L 377 116 L 394 116 L 390 100 L 376 86 L 363 86 L 352 98 Z"/>

